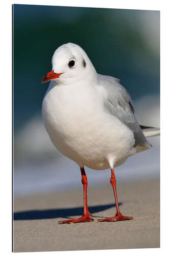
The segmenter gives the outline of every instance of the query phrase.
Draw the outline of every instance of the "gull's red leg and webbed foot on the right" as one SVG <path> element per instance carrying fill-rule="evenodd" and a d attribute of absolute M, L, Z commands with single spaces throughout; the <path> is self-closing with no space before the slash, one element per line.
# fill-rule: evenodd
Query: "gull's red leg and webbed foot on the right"
<path fill-rule="evenodd" d="M 115 198 L 115 203 L 116 203 L 116 215 L 110 218 L 106 218 L 106 219 L 101 219 L 98 220 L 99 222 L 102 221 L 109 221 L 109 222 L 113 222 L 113 221 L 126 221 L 126 220 L 133 220 L 132 217 L 127 217 L 127 216 L 123 216 L 119 210 L 118 207 L 118 201 L 117 201 L 117 193 L 116 193 L 116 178 L 114 175 L 114 171 L 113 168 L 111 169 L 111 179 L 110 179 L 110 183 L 113 187 L 113 192 L 114 192 L 114 198 Z"/>

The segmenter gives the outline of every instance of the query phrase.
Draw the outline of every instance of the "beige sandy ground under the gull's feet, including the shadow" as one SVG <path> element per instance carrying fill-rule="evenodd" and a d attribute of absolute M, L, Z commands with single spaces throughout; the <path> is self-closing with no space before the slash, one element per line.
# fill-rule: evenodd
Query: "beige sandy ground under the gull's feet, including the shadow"
<path fill-rule="evenodd" d="M 124 215 L 134 220 L 102 222 L 115 214 L 111 185 L 88 186 L 94 222 L 58 224 L 83 212 L 83 189 L 15 198 L 14 252 L 160 247 L 159 180 L 117 183 Z"/>

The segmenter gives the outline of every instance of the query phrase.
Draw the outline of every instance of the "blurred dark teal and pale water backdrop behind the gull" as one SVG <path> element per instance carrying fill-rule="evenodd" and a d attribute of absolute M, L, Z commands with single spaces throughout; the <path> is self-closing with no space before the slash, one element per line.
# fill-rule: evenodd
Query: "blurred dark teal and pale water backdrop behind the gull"
<path fill-rule="evenodd" d="M 79 167 L 61 155 L 41 118 L 54 51 L 80 45 L 100 74 L 130 93 L 140 124 L 160 127 L 160 12 L 13 5 L 14 195 L 82 187 Z M 115 169 L 118 181 L 159 177 L 160 138 Z M 68 178 L 68 173 L 71 176 Z M 86 168 L 88 183 L 110 185 L 110 170 Z"/>

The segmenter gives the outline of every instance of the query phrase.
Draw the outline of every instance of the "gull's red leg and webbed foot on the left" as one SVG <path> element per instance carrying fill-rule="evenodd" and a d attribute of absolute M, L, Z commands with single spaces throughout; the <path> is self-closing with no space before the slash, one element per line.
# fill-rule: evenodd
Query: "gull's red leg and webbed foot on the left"
<path fill-rule="evenodd" d="M 84 170 L 84 167 L 80 168 L 81 169 L 81 174 L 82 174 L 82 184 L 83 184 L 83 189 L 84 189 L 84 212 L 83 216 L 80 218 L 76 219 L 69 219 L 65 221 L 59 221 L 59 224 L 64 224 L 64 223 L 79 223 L 79 222 L 89 222 L 89 221 L 94 221 L 94 219 L 90 218 L 91 214 L 88 211 L 88 205 L 87 205 L 87 176 Z"/>

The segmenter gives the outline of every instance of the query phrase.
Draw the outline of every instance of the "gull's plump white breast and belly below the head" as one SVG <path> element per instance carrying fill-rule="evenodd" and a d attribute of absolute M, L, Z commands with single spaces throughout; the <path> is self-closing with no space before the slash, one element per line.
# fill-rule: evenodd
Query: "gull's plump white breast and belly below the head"
<path fill-rule="evenodd" d="M 65 156 L 93 169 L 109 168 L 128 157 L 133 133 L 104 111 L 103 94 L 94 86 L 56 86 L 51 82 L 42 103 L 45 129 Z"/>

